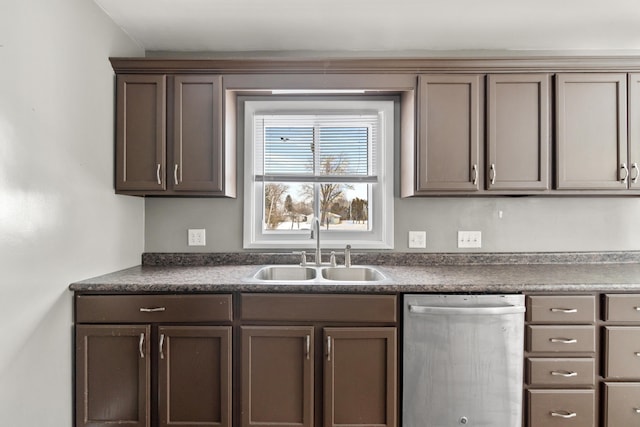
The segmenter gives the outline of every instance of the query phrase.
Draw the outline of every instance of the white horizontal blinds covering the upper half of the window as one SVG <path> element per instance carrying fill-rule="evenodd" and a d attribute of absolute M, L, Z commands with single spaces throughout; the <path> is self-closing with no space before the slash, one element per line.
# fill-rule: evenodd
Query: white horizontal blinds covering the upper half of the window
<path fill-rule="evenodd" d="M 377 111 L 256 114 L 256 180 L 375 182 Z"/>

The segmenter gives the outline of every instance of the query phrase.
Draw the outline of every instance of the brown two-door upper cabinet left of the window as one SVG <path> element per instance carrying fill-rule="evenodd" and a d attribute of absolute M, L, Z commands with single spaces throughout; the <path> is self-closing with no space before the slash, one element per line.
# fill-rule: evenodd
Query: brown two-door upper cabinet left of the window
<path fill-rule="evenodd" d="M 119 74 L 116 192 L 235 197 L 219 75 Z"/>

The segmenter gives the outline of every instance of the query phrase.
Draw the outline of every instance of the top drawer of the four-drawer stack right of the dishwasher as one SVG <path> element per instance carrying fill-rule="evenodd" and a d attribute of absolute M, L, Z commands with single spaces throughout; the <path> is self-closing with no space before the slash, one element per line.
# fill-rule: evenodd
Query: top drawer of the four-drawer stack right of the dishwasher
<path fill-rule="evenodd" d="M 535 295 L 527 297 L 527 320 L 549 323 L 593 323 L 594 295 Z"/>

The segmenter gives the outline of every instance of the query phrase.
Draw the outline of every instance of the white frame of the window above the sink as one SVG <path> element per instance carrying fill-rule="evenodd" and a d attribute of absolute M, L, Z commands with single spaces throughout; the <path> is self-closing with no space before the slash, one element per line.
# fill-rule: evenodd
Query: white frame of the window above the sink
<path fill-rule="evenodd" d="M 349 244 L 355 249 L 393 249 L 393 177 L 394 177 L 394 128 L 397 125 L 397 102 L 386 97 L 362 96 L 358 99 L 303 99 L 240 97 L 241 120 L 244 129 L 244 221 L 243 247 L 245 249 L 307 249 L 315 247 L 315 241 L 307 233 L 263 232 L 263 188 L 255 179 L 256 146 L 254 141 L 254 116 L 270 111 L 355 111 L 377 110 L 381 117 L 380 141 L 376 148 L 378 181 L 370 186 L 369 202 L 371 227 L 368 231 L 331 230 L 320 233 L 323 248 L 344 248 Z"/>

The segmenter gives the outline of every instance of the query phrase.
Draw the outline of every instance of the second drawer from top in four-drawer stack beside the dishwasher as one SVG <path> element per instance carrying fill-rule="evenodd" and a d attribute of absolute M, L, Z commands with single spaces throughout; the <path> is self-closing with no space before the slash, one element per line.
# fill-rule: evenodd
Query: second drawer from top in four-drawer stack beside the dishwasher
<path fill-rule="evenodd" d="M 595 326 L 527 326 L 528 351 L 595 352 Z"/>

